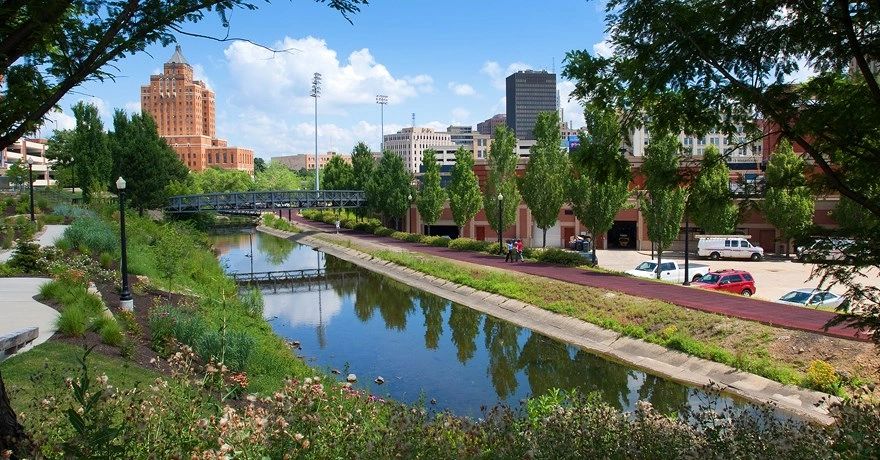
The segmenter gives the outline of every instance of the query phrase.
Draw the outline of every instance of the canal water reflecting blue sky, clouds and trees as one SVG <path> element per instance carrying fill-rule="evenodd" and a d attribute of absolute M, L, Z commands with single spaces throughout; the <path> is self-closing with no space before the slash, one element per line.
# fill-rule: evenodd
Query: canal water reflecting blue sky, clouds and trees
<path fill-rule="evenodd" d="M 227 272 L 326 268 L 321 283 L 264 286 L 274 331 L 302 345 L 318 368 L 358 376 L 375 395 L 479 417 L 483 407 L 519 407 L 552 388 L 599 392 L 625 411 L 640 400 L 663 413 L 725 396 L 664 380 L 578 347 L 414 289 L 346 261 L 271 235 L 212 236 Z M 253 248 L 253 257 L 251 257 Z M 253 264 L 253 265 L 252 265 Z M 374 380 L 381 376 L 385 383 Z"/>

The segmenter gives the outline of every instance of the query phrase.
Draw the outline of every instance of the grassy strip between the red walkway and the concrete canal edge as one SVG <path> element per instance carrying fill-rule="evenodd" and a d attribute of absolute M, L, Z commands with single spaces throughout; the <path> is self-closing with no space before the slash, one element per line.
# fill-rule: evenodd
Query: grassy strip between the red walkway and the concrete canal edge
<path fill-rule="evenodd" d="M 330 236 L 319 236 L 338 242 Z M 348 240 L 351 241 L 351 240 Z M 411 252 L 378 250 L 351 244 L 374 257 L 477 290 L 520 300 L 578 318 L 620 334 L 726 364 L 777 382 L 845 395 L 847 383 L 829 378 L 820 363 L 774 356 L 770 346 L 778 330 L 760 323 L 682 308 L 666 302 L 538 276 L 462 264 Z M 853 384 L 863 381 L 857 377 Z"/>

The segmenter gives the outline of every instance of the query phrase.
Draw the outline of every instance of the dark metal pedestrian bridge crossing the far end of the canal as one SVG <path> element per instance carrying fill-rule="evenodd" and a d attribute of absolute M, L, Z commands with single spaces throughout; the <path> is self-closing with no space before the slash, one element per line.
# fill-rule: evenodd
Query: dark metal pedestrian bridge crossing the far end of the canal
<path fill-rule="evenodd" d="M 361 190 L 221 192 L 172 196 L 168 199 L 165 211 L 174 214 L 195 212 L 257 214 L 285 208 L 359 208 L 365 202 L 366 194 Z"/>

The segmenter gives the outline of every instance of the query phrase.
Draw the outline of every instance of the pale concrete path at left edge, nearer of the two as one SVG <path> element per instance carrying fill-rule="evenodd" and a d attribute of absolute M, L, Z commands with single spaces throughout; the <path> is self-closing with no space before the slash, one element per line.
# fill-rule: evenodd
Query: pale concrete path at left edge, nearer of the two
<path fill-rule="evenodd" d="M 55 333 L 58 311 L 33 299 L 40 293 L 40 286 L 48 281 L 47 278 L 0 278 L 0 335 L 26 327 L 40 328 L 37 339 L 18 353 L 49 340 Z"/>

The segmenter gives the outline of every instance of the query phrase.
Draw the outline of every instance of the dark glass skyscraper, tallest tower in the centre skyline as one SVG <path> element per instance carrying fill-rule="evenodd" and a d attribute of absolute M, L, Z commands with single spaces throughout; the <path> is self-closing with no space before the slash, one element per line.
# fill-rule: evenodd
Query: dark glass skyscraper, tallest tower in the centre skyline
<path fill-rule="evenodd" d="M 538 114 L 555 110 L 556 74 L 522 70 L 507 77 L 507 126 L 517 139 L 534 139 Z"/>

